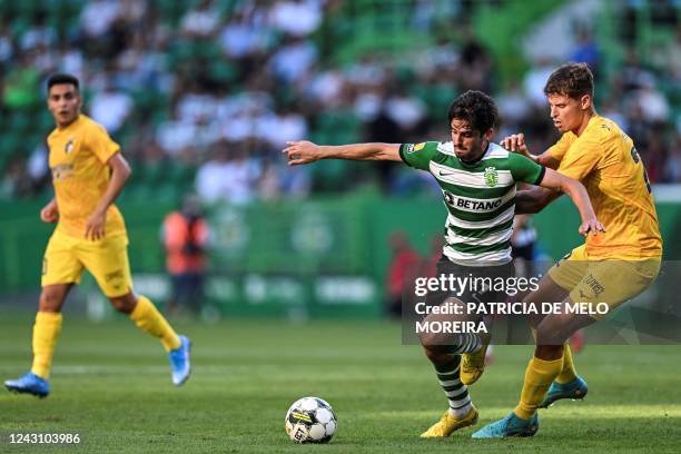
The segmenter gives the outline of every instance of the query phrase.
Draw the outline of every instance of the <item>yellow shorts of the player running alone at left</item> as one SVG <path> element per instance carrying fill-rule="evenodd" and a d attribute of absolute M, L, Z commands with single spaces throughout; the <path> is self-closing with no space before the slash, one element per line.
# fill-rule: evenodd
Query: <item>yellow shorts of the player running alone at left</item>
<path fill-rule="evenodd" d="M 108 297 L 131 292 L 127 235 L 92 241 L 55 230 L 42 259 L 42 286 L 79 284 L 83 269 L 90 272 Z"/>

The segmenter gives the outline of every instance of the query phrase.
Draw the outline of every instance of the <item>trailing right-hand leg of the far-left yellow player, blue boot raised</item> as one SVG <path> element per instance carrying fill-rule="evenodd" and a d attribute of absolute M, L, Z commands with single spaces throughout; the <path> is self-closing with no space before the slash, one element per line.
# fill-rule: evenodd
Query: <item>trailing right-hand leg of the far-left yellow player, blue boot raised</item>
<path fill-rule="evenodd" d="M 118 312 L 128 314 L 141 330 L 160 339 L 170 359 L 172 383 L 179 386 L 189 378 L 190 342 L 177 335 L 149 298 L 132 292 L 127 246 L 126 236 L 82 243 L 78 257 L 95 276 L 111 305 Z"/>

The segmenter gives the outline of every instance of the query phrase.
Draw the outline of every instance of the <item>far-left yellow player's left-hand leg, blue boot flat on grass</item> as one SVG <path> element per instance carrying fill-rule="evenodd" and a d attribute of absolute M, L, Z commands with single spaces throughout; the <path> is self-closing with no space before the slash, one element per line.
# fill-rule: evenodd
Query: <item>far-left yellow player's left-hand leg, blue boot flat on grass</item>
<path fill-rule="evenodd" d="M 72 238 L 56 231 L 42 261 L 42 292 L 33 324 L 31 371 L 4 382 L 8 389 L 46 397 L 57 339 L 61 332 L 61 307 L 73 283 L 80 280 L 82 265 L 73 254 Z"/>

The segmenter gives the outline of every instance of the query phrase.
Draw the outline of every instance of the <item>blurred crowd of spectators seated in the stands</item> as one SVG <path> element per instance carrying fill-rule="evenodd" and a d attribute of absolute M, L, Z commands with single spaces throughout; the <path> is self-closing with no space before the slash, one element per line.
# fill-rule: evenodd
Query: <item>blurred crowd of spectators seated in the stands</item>
<path fill-rule="evenodd" d="M 446 140 L 446 108 L 466 89 L 497 99 L 499 139 L 524 131 L 535 152 L 556 139 L 542 88 L 560 62 L 531 62 L 524 76 L 502 83 L 494 56 L 464 20 L 474 2 L 445 10 L 406 3 L 412 27 L 432 28 L 433 46 L 404 55 L 362 51 L 346 61 L 335 58 L 343 46 L 338 21 L 348 8 L 339 0 L 70 0 L 62 8 L 72 7 L 75 14 L 66 22 L 58 12 L 37 10 L 23 27 L 0 23 L 0 112 L 14 118 L 2 134 L 8 125 L 20 128 L 22 116 L 36 119 L 23 125 L 27 130 L 41 128 L 18 141 L 30 147 L 21 152 L 7 154 L 12 144 L 0 139 L 0 196 L 30 196 L 49 186 L 43 82 L 56 71 L 80 78 L 85 110 L 142 169 L 138 178 L 151 178 L 148 169 L 184 175 L 178 178 L 188 181 L 187 189 L 208 203 L 306 197 L 363 185 L 395 195 L 428 191 L 427 178 L 398 166 L 367 165 L 359 172 L 288 168 L 280 150 L 287 140 L 304 138 Z M 628 11 L 623 20 L 630 20 Z M 443 21 L 458 26 L 443 28 Z M 636 51 L 635 33 L 621 33 L 625 58 L 616 70 L 604 71 L 609 50 L 588 28 L 575 29 L 580 40 L 572 57 L 594 70 L 596 108 L 634 138 L 650 179 L 681 182 L 679 97 L 669 95 L 681 83 L 681 24 L 664 26 L 675 38 L 645 56 Z M 29 138 L 34 142 L 26 144 Z"/>

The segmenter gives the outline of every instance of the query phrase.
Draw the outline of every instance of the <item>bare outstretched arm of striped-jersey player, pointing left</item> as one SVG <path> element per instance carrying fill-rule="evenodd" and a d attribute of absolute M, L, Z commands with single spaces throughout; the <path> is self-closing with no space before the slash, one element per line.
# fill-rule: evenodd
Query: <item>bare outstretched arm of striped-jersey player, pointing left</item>
<path fill-rule="evenodd" d="M 319 159 L 394 160 L 399 158 L 399 144 L 316 145 L 307 140 L 286 142 L 282 150 L 289 166 L 310 164 Z"/>

